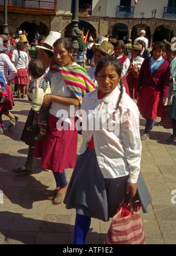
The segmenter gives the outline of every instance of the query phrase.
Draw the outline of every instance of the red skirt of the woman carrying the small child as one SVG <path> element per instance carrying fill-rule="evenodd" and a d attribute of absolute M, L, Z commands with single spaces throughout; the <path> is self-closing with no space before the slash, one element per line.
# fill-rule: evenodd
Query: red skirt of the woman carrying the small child
<path fill-rule="evenodd" d="M 73 169 L 76 164 L 77 130 L 57 130 L 58 120 L 52 114 L 48 115 L 48 132 L 44 140 L 36 141 L 33 155 L 42 157 L 41 167 L 44 169 L 63 173 L 64 169 Z"/>

